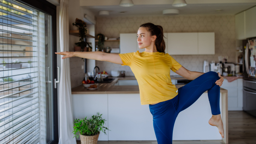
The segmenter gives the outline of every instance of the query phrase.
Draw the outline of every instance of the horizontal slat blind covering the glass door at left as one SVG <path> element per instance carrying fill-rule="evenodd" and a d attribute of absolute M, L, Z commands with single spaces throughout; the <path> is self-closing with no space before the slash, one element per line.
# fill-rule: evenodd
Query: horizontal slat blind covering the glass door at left
<path fill-rule="evenodd" d="M 0 0 L 0 144 L 40 140 L 38 14 Z"/>

